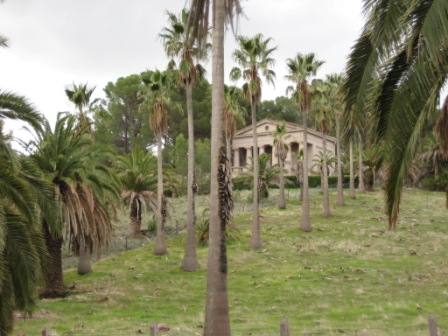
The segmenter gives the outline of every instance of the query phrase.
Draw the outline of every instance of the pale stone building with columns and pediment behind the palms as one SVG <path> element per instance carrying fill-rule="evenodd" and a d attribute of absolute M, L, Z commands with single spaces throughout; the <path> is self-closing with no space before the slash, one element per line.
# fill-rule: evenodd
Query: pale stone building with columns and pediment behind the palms
<path fill-rule="evenodd" d="M 263 119 L 257 123 L 258 153 L 271 154 L 272 164 L 278 164 L 275 155 L 274 140 L 272 134 L 275 132 L 277 124 L 282 121 Z M 297 155 L 304 148 L 303 128 L 301 125 L 284 123 L 286 126 L 286 143 L 289 145 L 288 154 L 285 160 L 285 170 L 287 174 L 295 174 L 297 167 Z M 308 167 L 310 173 L 317 174 L 317 170 L 311 169 L 313 157 L 323 150 L 322 133 L 308 128 Z M 336 139 L 327 135 L 327 152 L 336 155 Z M 234 176 L 241 172 L 247 172 L 251 164 L 252 148 L 252 125 L 238 130 L 232 140 L 232 171 Z M 332 169 L 330 168 L 330 171 Z"/>

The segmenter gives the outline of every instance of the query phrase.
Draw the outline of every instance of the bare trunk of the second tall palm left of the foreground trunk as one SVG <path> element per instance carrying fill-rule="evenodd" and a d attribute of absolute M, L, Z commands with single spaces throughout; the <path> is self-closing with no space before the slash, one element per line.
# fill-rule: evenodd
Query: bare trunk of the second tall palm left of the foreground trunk
<path fill-rule="evenodd" d="M 155 255 L 168 253 L 163 232 L 163 170 L 162 170 L 162 134 L 157 133 L 157 228 Z"/>

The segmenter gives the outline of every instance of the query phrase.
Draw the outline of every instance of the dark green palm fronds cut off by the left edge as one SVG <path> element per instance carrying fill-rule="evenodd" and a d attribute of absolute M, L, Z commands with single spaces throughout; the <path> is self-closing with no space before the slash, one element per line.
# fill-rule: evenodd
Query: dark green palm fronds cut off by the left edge
<path fill-rule="evenodd" d="M 51 186 L 3 134 L 3 119 L 41 128 L 42 116 L 28 100 L 0 91 L 0 334 L 9 335 L 14 310 L 30 312 L 43 283 L 47 252 L 40 215 L 57 217 Z"/>

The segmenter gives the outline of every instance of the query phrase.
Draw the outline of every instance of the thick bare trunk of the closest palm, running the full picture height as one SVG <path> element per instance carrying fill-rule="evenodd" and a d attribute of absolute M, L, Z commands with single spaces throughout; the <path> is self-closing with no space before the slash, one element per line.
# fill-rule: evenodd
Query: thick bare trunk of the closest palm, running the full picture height
<path fill-rule="evenodd" d="M 226 221 L 221 217 L 220 153 L 224 147 L 224 18 L 225 1 L 213 1 L 212 129 L 210 233 L 207 260 L 207 297 L 204 336 L 230 336 L 227 297 Z"/>

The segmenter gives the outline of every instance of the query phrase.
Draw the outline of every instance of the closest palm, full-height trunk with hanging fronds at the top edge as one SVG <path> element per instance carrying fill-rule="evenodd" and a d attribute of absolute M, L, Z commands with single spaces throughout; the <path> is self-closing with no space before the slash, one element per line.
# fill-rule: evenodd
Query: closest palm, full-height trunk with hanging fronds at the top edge
<path fill-rule="evenodd" d="M 210 5 L 212 8 L 210 10 Z M 212 162 L 210 176 L 210 242 L 207 259 L 207 297 L 204 336 L 230 336 L 227 296 L 226 226 L 232 199 L 229 158 L 224 145 L 224 24 L 241 13 L 239 0 L 191 0 L 189 29 L 203 45 L 208 37 L 212 13 Z M 227 170 L 226 170 L 227 168 Z M 227 191 L 227 192 L 226 192 Z M 228 197 L 226 197 L 228 196 Z"/>

